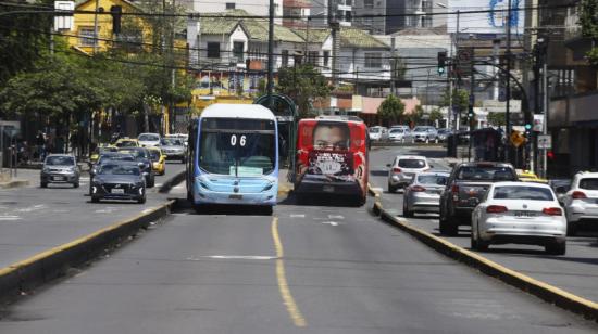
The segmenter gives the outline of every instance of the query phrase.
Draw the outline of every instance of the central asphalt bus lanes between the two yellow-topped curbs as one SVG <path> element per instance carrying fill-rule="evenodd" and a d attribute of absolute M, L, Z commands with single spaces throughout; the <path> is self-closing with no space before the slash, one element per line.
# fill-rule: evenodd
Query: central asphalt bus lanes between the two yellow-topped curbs
<path fill-rule="evenodd" d="M 369 206 L 371 203 L 369 204 Z M 370 215 L 183 209 L 8 307 L 1 333 L 596 333 Z"/>

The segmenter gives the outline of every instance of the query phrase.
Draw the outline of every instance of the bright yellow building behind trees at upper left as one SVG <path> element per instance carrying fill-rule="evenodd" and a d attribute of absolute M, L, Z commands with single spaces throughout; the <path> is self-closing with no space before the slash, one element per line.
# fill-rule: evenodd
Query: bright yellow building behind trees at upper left
<path fill-rule="evenodd" d="M 77 1 L 76 11 L 95 12 L 96 5 L 98 12 L 110 13 L 113 5 L 120 5 L 123 13 L 141 12 L 142 10 L 135 3 L 127 0 L 86 0 Z M 123 20 L 127 16 L 122 16 Z M 98 25 L 98 41 L 97 51 L 107 51 L 110 40 L 115 39 L 112 33 L 112 15 L 110 14 L 92 14 L 92 13 L 75 13 L 73 23 L 73 35 L 77 37 L 68 38 L 68 44 L 85 53 L 94 52 L 94 26 L 97 18 Z M 140 21 L 141 22 L 141 21 Z M 141 24 L 142 25 L 142 24 Z"/>

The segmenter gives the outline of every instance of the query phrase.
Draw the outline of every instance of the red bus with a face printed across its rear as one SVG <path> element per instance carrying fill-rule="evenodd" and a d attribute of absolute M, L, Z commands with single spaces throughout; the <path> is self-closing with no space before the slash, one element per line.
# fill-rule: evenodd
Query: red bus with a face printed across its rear
<path fill-rule="evenodd" d="M 358 117 L 301 119 L 297 128 L 295 193 L 334 194 L 363 205 L 367 196 L 367 127 Z"/>

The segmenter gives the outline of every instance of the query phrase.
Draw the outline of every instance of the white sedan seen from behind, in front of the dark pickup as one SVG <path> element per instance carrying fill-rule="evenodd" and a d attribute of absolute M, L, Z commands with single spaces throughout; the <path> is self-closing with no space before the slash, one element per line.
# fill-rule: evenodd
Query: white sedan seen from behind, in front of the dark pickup
<path fill-rule="evenodd" d="M 490 185 L 472 214 L 472 249 L 490 244 L 544 246 L 566 252 L 566 218 L 552 189 L 533 182 L 497 182 Z"/>

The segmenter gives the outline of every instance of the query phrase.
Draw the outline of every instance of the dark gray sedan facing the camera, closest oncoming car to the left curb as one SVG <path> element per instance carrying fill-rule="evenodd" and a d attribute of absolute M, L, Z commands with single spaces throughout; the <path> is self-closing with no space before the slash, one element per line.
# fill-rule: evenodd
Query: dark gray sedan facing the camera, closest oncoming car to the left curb
<path fill-rule="evenodd" d="M 97 167 L 91 181 L 91 202 L 134 200 L 146 203 L 146 180 L 137 163 L 114 162 Z"/>

